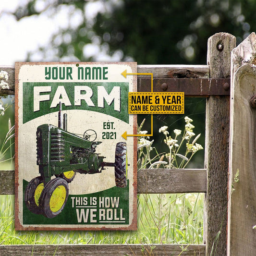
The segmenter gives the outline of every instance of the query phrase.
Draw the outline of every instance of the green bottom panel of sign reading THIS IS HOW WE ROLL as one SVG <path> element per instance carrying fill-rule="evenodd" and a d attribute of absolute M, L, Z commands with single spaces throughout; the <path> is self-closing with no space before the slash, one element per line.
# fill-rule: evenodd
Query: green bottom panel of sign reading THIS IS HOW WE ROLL
<path fill-rule="evenodd" d="M 23 195 L 28 182 L 23 180 Z M 24 225 L 128 225 L 129 180 L 126 188 L 112 187 L 87 195 L 69 195 L 66 206 L 55 218 L 32 213 L 23 201 Z"/>

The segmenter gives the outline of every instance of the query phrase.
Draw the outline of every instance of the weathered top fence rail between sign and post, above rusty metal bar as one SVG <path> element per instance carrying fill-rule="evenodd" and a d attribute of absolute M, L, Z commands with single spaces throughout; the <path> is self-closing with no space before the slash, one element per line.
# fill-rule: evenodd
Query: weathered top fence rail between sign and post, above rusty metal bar
<path fill-rule="evenodd" d="M 154 78 L 209 78 L 208 65 L 138 65 L 137 71 L 153 73 Z"/>

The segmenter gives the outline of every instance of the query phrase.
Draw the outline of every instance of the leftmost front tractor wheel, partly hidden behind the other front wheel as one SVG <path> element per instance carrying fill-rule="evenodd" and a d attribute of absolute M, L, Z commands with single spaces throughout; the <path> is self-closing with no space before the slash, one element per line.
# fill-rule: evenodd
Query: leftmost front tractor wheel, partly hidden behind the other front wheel
<path fill-rule="evenodd" d="M 39 198 L 41 196 L 41 193 L 44 189 L 44 181 L 42 176 L 38 176 L 34 179 L 32 179 L 26 187 L 25 190 L 25 204 L 27 208 L 35 213 L 35 214 L 41 214 L 42 210 L 39 207 Z"/>

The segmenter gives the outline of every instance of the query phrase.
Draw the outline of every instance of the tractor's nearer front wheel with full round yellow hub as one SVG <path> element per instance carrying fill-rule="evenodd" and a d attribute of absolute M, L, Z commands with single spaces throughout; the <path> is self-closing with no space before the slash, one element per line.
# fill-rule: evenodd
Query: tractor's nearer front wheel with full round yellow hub
<path fill-rule="evenodd" d="M 45 217 L 54 218 L 61 213 L 68 199 L 68 190 L 68 183 L 61 178 L 55 178 L 46 184 L 39 202 Z"/>

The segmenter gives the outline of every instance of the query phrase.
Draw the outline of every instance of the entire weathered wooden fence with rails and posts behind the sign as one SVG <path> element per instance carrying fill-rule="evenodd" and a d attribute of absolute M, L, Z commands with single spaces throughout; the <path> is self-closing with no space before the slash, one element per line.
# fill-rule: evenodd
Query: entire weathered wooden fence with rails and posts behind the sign
<path fill-rule="evenodd" d="M 0 255 L 254 256 L 255 33 L 235 46 L 235 37 L 218 33 L 208 39 L 207 65 L 138 66 L 138 73 L 153 73 L 154 91 L 207 97 L 205 169 L 138 172 L 138 193 L 205 193 L 205 244 L 0 245 Z M 10 86 L 0 95 L 14 94 L 14 68 L 0 70 L 8 72 Z M 148 78 L 138 78 L 138 91 L 150 91 Z M 234 183 L 237 170 L 239 181 Z M 0 171 L 0 194 L 14 194 L 14 171 Z"/>

